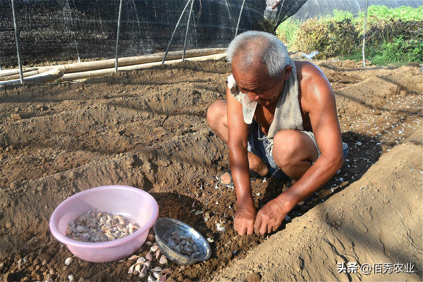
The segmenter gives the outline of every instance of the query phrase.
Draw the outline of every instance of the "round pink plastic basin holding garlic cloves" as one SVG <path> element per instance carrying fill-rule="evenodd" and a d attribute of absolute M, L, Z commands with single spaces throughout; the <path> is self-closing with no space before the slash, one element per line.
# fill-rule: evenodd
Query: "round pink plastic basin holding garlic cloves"
<path fill-rule="evenodd" d="M 64 234 L 69 221 L 93 207 L 102 212 L 124 216 L 132 224 L 138 224 L 140 229 L 124 238 L 102 243 L 78 242 L 67 238 Z M 94 263 L 104 263 L 126 257 L 140 248 L 158 214 L 156 200 L 143 190 L 121 185 L 101 186 L 79 192 L 58 205 L 50 217 L 50 230 L 75 256 Z"/>

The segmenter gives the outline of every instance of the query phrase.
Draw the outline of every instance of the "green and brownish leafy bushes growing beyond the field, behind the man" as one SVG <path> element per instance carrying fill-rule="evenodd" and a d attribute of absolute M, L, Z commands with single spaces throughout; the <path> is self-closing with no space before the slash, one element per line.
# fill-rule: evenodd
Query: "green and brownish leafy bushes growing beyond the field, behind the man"
<path fill-rule="evenodd" d="M 388 8 L 382 5 L 368 7 L 366 26 L 366 58 L 372 64 L 423 63 L 423 10 L 401 6 Z M 299 22 L 287 19 L 282 22 L 276 36 L 289 50 L 312 52 L 315 58 L 340 57 L 361 60 L 364 11 L 352 14 L 334 10 L 333 15 Z"/>

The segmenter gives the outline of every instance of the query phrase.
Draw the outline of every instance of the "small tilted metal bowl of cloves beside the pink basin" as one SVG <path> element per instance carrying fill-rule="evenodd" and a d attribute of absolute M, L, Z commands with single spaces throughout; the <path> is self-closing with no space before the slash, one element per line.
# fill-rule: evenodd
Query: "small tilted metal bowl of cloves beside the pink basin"
<path fill-rule="evenodd" d="M 169 260 L 180 265 L 192 265 L 204 260 L 208 260 L 211 257 L 211 248 L 209 242 L 201 235 L 200 232 L 190 227 L 188 224 L 185 224 L 182 221 L 162 217 L 157 219 L 153 225 L 154 233 L 156 234 L 156 243 L 159 247 L 160 252 L 164 254 Z M 162 235 L 165 232 L 172 233 L 177 231 L 179 235 L 186 237 L 191 237 L 195 241 L 195 245 L 198 247 L 198 252 L 200 253 L 197 258 L 190 258 L 179 254 L 172 249 L 170 249 L 164 240 L 162 240 Z"/>

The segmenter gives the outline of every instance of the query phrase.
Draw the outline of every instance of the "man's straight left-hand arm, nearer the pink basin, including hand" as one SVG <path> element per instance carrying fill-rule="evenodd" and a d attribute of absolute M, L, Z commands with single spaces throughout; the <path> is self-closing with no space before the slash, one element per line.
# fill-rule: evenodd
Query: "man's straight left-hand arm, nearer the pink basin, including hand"
<path fill-rule="evenodd" d="M 247 155 L 248 124 L 244 122 L 242 104 L 226 88 L 228 97 L 229 164 L 236 192 L 236 215 L 233 227 L 239 235 L 253 234 L 255 208 L 251 194 L 250 170 Z"/>

